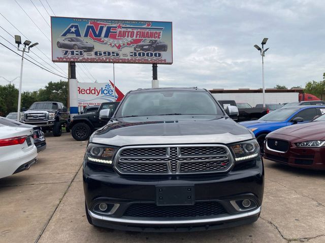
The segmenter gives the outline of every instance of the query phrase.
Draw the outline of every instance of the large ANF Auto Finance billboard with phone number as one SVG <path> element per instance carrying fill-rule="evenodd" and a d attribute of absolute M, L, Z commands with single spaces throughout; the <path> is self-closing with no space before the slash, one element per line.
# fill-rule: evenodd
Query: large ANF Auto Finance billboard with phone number
<path fill-rule="evenodd" d="M 172 22 L 51 17 L 53 62 L 173 63 Z"/>

